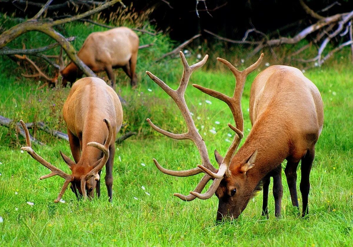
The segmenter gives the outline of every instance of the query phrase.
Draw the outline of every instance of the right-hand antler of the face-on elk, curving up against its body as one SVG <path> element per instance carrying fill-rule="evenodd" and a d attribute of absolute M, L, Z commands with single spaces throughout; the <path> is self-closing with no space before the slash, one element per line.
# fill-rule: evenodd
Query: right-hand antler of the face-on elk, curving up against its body
<path fill-rule="evenodd" d="M 86 181 L 89 180 L 92 176 L 95 177 L 94 180 L 98 181 L 99 180 L 98 172 L 102 170 L 103 166 L 107 163 L 109 159 L 109 145 L 113 139 L 113 129 L 108 119 L 104 118 L 103 121 L 106 123 L 108 128 L 108 136 L 106 141 L 104 142 L 104 145 L 94 141 L 87 143 L 87 146 L 95 147 L 101 150 L 103 152 L 103 157 L 100 160 L 98 160 L 99 163 L 86 176 L 81 178 L 81 190 L 82 190 L 82 195 L 84 199 L 87 198 Z"/>

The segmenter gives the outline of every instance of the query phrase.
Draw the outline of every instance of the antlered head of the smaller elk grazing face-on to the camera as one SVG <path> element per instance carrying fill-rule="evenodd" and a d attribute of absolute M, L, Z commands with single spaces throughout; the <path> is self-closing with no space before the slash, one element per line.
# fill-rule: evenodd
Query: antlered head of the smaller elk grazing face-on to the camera
<path fill-rule="evenodd" d="M 87 198 L 87 192 L 89 193 L 90 198 L 94 196 L 93 191 L 94 188 L 96 187 L 97 181 L 100 179 L 100 176 L 98 175 L 98 172 L 103 168 L 103 166 L 107 163 L 107 160 L 109 158 L 109 144 L 112 141 L 113 138 L 113 130 L 112 127 L 110 126 L 110 123 L 107 119 L 103 119 L 103 121 L 106 123 L 107 128 L 108 128 L 108 137 L 104 143 L 104 145 L 98 143 L 98 142 L 89 142 L 87 143 L 87 146 L 92 146 L 95 148 L 100 149 L 103 152 L 103 157 L 99 159 L 95 164 L 91 166 L 86 166 L 85 168 L 82 165 L 76 164 L 74 161 L 72 161 L 70 158 L 68 158 L 65 154 L 61 153 L 62 158 L 66 162 L 66 164 L 70 167 L 72 174 L 66 174 L 64 171 L 61 171 L 57 167 L 53 166 L 50 164 L 48 161 L 44 160 L 42 157 L 40 157 L 34 150 L 32 149 L 31 146 L 31 141 L 29 139 L 29 132 L 28 129 L 25 125 L 25 123 L 20 120 L 20 123 L 22 124 L 22 127 L 26 133 L 26 143 L 27 146 L 22 147 L 21 150 L 28 152 L 32 158 L 37 160 L 39 163 L 47 167 L 49 170 L 52 172 L 48 175 L 41 176 L 39 179 L 42 180 L 44 178 L 49 178 L 53 177 L 55 175 L 58 175 L 62 178 L 65 179 L 64 185 L 62 186 L 62 189 L 58 195 L 58 198 L 54 200 L 55 203 L 59 202 L 62 195 L 64 194 L 67 186 L 69 183 L 71 183 L 71 189 L 79 199 L 81 196 L 83 199 Z"/>

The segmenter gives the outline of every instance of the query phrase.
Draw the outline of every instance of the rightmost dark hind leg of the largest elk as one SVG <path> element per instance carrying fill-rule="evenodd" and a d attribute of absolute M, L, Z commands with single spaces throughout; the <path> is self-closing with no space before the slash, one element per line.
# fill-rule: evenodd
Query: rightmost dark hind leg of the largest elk
<path fill-rule="evenodd" d="M 300 180 L 300 193 L 303 199 L 303 212 L 301 216 L 305 216 L 309 213 L 308 208 L 308 196 L 310 190 L 310 171 L 312 166 L 312 161 L 315 157 L 315 149 L 306 152 L 305 156 L 301 159 L 301 180 Z"/>

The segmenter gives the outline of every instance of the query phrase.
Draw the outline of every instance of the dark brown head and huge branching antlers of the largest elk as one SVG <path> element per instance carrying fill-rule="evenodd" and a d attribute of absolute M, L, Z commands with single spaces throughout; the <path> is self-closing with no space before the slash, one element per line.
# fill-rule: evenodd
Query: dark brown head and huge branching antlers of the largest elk
<path fill-rule="evenodd" d="M 158 164 L 156 159 L 153 159 L 153 161 L 160 171 L 172 176 L 186 177 L 204 172 L 205 175 L 202 177 L 197 187 L 193 191 L 191 191 L 189 195 L 182 195 L 179 193 L 175 193 L 174 195 L 180 198 L 181 200 L 191 201 L 195 198 L 208 199 L 216 193 L 216 196 L 219 198 L 217 220 L 220 220 L 222 219 L 222 217 L 227 216 L 231 218 L 237 218 L 246 207 L 247 201 L 249 201 L 250 196 L 254 191 L 251 190 L 251 192 L 249 192 L 249 190 L 247 190 L 248 179 L 246 172 L 254 166 L 257 154 L 257 151 L 254 150 L 253 154 L 250 157 L 248 157 L 246 160 L 241 161 L 237 161 L 233 157 L 235 151 L 237 150 L 240 144 L 241 139 L 243 138 L 244 119 L 243 112 L 241 110 L 241 95 L 243 94 L 247 75 L 249 75 L 249 73 L 254 71 L 260 65 L 263 58 L 263 54 L 261 54 L 260 58 L 255 64 L 251 65 L 243 71 L 238 71 L 228 61 L 221 58 L 217 58 L 218 61 L 221 61 L 223 64 L 228 66 L 228 68 L 233 72 L 236 78 L 236 86 L 232 98 L 220 92 L 216 92 L 212 89 L 204 88 L 196 84 L 192 85 L 193 87 L 196 87 L 202 92 L 226 102 L 226 104 L 229 106 L 233 113 L 233 118 L 237 127 L 234 127 L 232 124 L 228 123 L 228 127 L 235 132 L 232 144 L 228 148 L 228 151 L 224 158 L 222 158 L 221 155 L 219 155 L 219 153 L 215 151 L 216 160 L 219 163 L 219 169 L 216 169 L 210 162 L 207 147 L 195 127 L 195 123 L 193 122 L 189 108 L 186 105 L 184 96 L 185 89 L 187 87 L 187 83 L 189 82 L 191 73 L 206 63 L 208 55 L 206 55 L 202 61 L 199 61 L 198 63 L 192 66 L 189 66 L 182 52 L 180 52 L 180 57 L 184 66 L 184 72 L 177 90 L 173 90 L 168 87 L 167 84 L 165 84 L 163 81 L 161 81 L 149 71 L 146 71 L 146 73 L 175 101 L 175 103 L 179 107 L 179 110 L 181 111 L 181 114 L 185 119 L 187 125 L 187 133 L 173 134 L 158 128 L 151 122 L 150 119 L 147 119 L 147 121 L 154 130 L 163 135 L 169 136 L 177 140 L 189 139 L 193 141 L 200 153 L 202 164 L 197 165 L 196 168 L 186 171 L 172 171 L 164 169 L 160 164 Z M 213 183 L 211 184 L 207 192 L 202 194 L 203 188 L 210 180 L 213 180 Z M 249 197 L 247 197 L 248 193 L 251 193 Z"/>

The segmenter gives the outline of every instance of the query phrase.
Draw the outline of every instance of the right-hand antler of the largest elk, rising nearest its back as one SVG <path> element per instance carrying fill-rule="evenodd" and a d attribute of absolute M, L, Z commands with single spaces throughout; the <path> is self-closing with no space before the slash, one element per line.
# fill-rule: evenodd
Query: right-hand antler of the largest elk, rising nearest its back
<path fill-rule="evenodd" d="M 264 54 L 262 53 L 260 55 L 260 58 L 256 61 L 255 64 L 251 65 L 250 67 L 247 67 L 243 71 L 237 70 L 227 60 L 222 59 L 222 58 L 217 58 L 218 61 L 221 61 L 223 64 L 227 65 L 228 68 L 233 72 L 233 74 L 235 76 L 236 85 L 235 85 L 234 94 L 233 94 L 232 98 L 228 97 L 225 94 L 217 92 L 215 90 L 205 88 L 205 87 L 199 86 L 197 84 L 192 84 L 193 87 L 196 87 L 197 89 L 201 90 L 203 93 L 206 93 L 210 96 L 213 96 L 217 99 L 220 99 L 220 100 L 226 102 L 233 113 L 233 118 L 234 118 L 235 124 L 237 125 L 237 128 L 236 128 L 232 124 L 228 123 L 229 128 L 231 128 L 237 135 L 234 135 L 233 142 L 232 142 L 231 146 L 228 148 L 228 151 L 227 151 L 225 158 L 223 159 L 223 161 L 220 165 L 218 172 L 217 173 L 212 172 L 209 169 L 207 169 L 207 167 L 203 167 L 202 165 L 198 165 L 199 168 L 201 168 L 204 172 L 206 172 L 208 175 L 210 175 L 213 178 L 222 178 L 224 175 L 226 175 L 226 176 L 231 175 L 231 171 L 229 170 L 229 165 L 230 165 L 230 162 L 231 162 L 231 159 L 234 155 L 235 150 L 237 150 L 237 148 L 240 144 L 240 141 L 244 136 L 243 135 L 244 119 L 243 119 L 243 111 L 241 110 L 241 95 L 243 94 L 243 91 L 244 91 L 246 77 L 261 64 L 263 55 Z M 193 194 L 195 195 L 195 193 L 193 193 Z"/>

